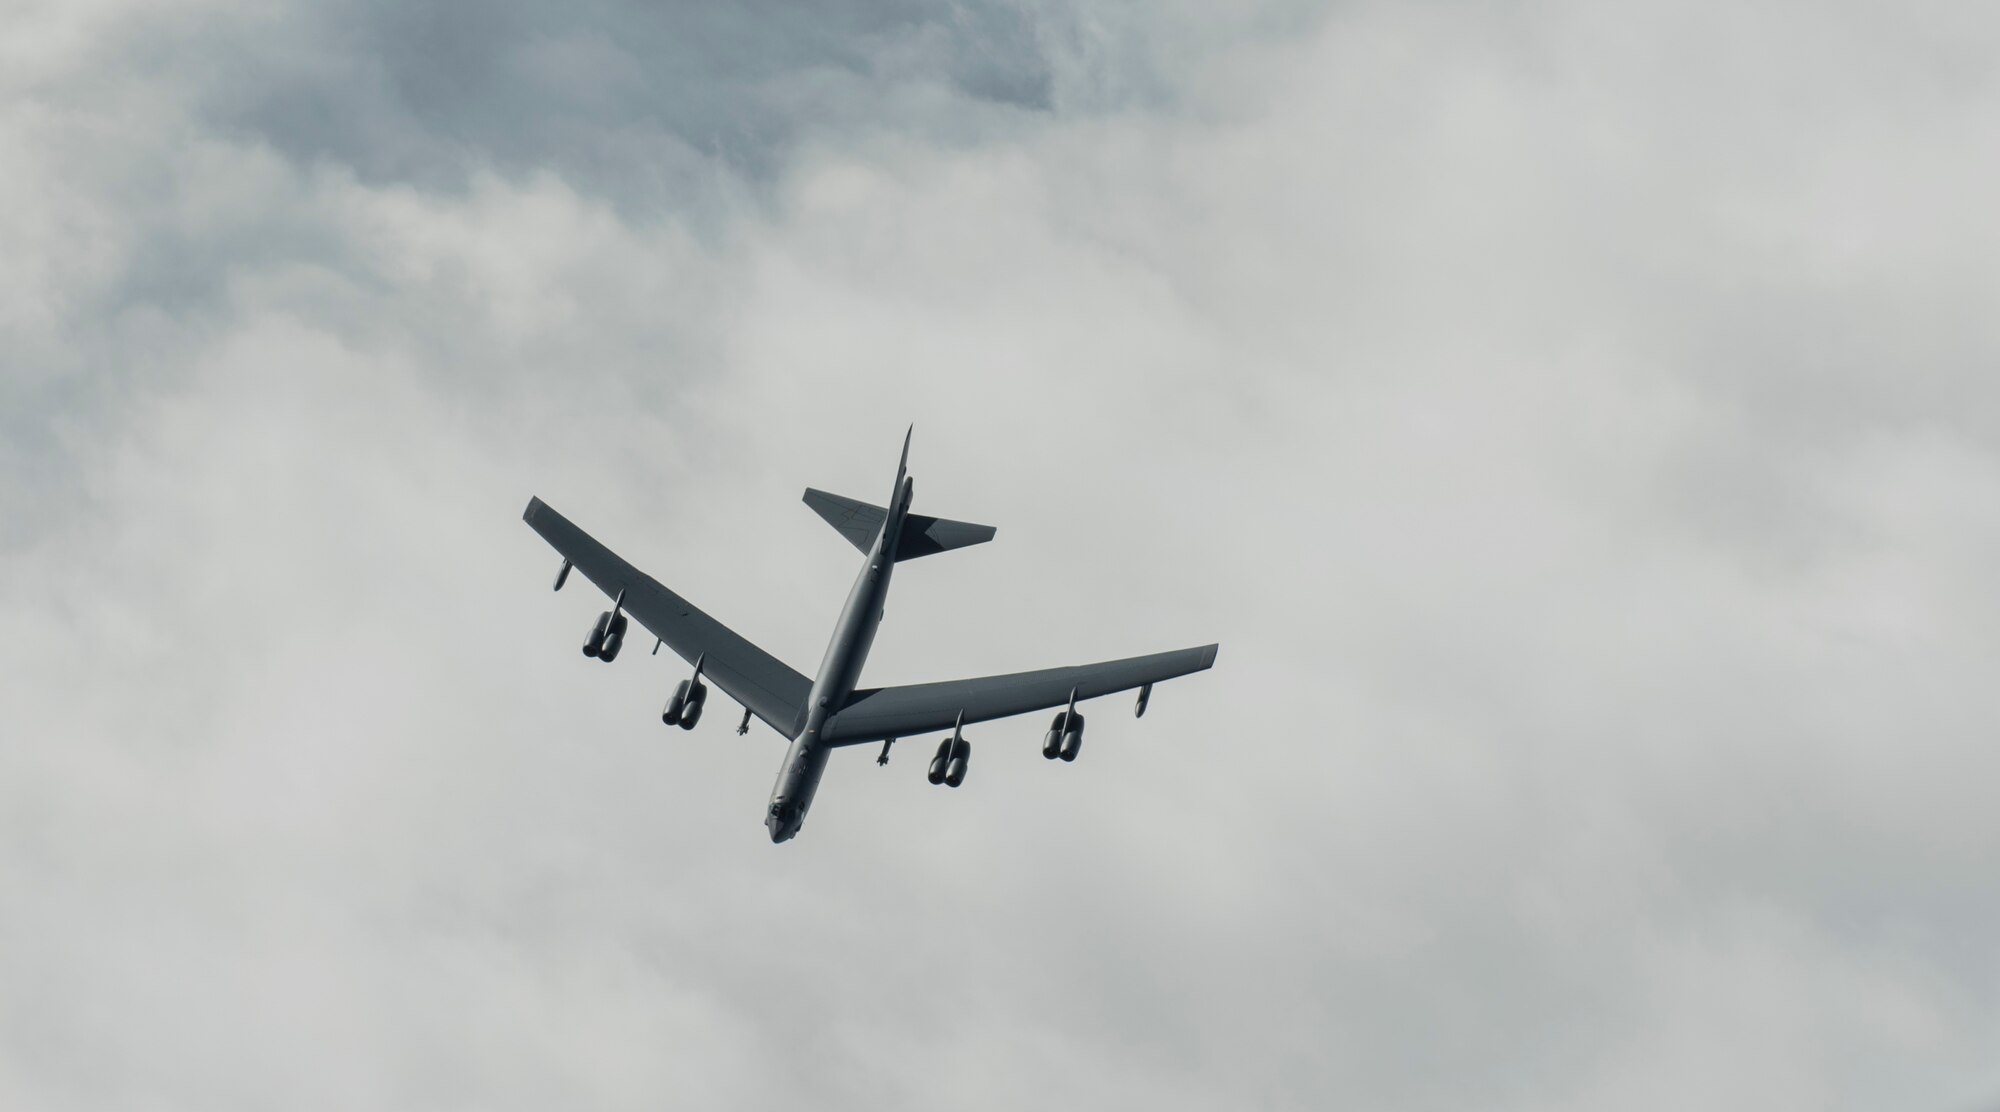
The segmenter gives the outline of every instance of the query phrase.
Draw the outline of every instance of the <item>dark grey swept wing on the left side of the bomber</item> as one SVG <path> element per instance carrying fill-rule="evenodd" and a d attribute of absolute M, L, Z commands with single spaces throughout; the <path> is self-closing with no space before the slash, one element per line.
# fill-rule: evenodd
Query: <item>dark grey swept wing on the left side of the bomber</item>
<path fill-rule="evenodd" d="M 812 680 L 626 564 L 548 502 L 530 498 L 522 520 L 606 596 L 616 598 L 622 590 L 626 614 L 638 618 L 640 626 L 666 642 L 682 660 L 692 664 L 700 658 L 702 676 L 714 680 L 730 698 L 786 738 L 798 730 L 806 700 L 812 696 Z"/>

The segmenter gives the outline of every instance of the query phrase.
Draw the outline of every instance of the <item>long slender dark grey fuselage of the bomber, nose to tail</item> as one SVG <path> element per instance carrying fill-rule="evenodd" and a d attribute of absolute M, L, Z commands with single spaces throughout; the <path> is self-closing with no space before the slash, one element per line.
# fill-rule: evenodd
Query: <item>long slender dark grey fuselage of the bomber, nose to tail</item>
<path fill-rule="evenodd" d="M 908 446 L 904 448 L 908 454 Z M 908 458 L 908 456 L 906 456 Z M 826 658 L 820 660 L 820 674 L 812 680 L 812 696 L 806 700 L 806 720 L 798 724 L 792 746 L 778 766 L 778 784 L 770 792 L 770 806 L 764 812 L 764 826 L 772 842 L 786 842 L 798 834 L 806 822 L 806 808 L 826 774 L 826 758 L 832 746 L 820 740 L 826 720 L 846 706 L 862 678 L 862 664 L 874 648 L 876 630 L 882 626 L 882 604 L 888 598 L 888 580 L 896 570 L 896 538 L 902 536 L 904 514 L 910 512 L 914 482 L 896 468 L 896 488 L 888 504 L 888 518 L 882 534 L 876 536 L 862 570 L 854 576 L 848 602 L 834 622 L 834 636 L 826 644 Z"/>

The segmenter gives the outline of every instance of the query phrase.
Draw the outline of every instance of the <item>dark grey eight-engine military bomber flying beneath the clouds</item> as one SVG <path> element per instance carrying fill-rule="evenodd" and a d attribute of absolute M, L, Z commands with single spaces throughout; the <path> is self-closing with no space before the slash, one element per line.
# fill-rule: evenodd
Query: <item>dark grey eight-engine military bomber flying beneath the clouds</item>
<path fill-rule="evenodd" d="M 1042 756 L 1076 760 L 1084 746 L 1084 714 L 1076 710 L 1078 702 L 1138 688 L 1132 714 L 1146 714 L 1156 682 L 1200 672 L 1216 662 L 1216 646 L 1204 644 L 1040 672 L 858 688 L 862 664 L 882 624 L 882 600 L 888 596 L 888 578 L 896 564 L 994 538 L 994 526 L 910 512 L 916 494 L 916 482 L 908 474 L 912 432 L 916 426 L 902 438 L 902 460 L 896 464 L 896 486 L 890 488 L 888 506 L 806 488 L 806 504 L 864 554 L 854 590 L 848 592 L 840 620 L 834 622 L 826 660 L 812 680 L 626 564 L 540 498 L 530 498 L 522 514 L 528 526 L 562 554 L 556 590 L 570 578 L 570 568 L 578 568 L 612 598 L 612 608 L 598 614 L 598 622 L 590 628 L 584 656 L 616 660 L 624 648 L 630 614 L 654 634 L 654 652 L 664 644 L 694 666 L 694 674 L 666 700 L 662 722 L 692 730 L 708 702 L 708 686 L 702 682 L 708 678 L 744 706 L 738 734 L 750 732 L 754 714 L 792 742 L 764 816 L 772 842 L 786 842 L 798 834 L 826 772 L 826 760 L 836 748 L 882 742 L 876 764 L 888 764 L 888 750 L 898 738 L 950 730 L 952 734 L 938 742 L 938 752 L 930 758 L 928 778 L 932 784 L 956 788 L 966 780 L 966 766 L 972 760 L 972 742 L 966 740 L 964 728 L 974 722 L 1060 706 L 1042 740 Z"/>

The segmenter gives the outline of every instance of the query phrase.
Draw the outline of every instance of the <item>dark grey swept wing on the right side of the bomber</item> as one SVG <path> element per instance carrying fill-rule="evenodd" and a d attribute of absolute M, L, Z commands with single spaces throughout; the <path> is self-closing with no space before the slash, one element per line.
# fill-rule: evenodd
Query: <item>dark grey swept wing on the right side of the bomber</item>
<path fill-rule="evenodd" d="M 860 744 L 882 738 L 908 738 L 930 730 L 950 730 L 964 722 L 990 722 L 1030 710 L 1066 706 L 1070 692 L 1078 702 L 1132 690 L 1188 672 L 1200 672 L 1216 662 L 1216 646 L 1180 648 L 1080 664 L 1014 672 L 1012 676 L 980 676 L 978 680 L 946 680 L 942 684 L 912 684 L 906 688 L 864 688 L 854 692 L 840 714 L 828 720 L 822 734 L 832 744 Z"/>

